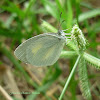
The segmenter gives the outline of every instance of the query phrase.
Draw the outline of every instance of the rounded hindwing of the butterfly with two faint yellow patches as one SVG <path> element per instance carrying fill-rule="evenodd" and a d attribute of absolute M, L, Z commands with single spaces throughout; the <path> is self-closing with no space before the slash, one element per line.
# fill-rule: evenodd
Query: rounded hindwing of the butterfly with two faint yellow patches
<path fill-rule="evenodd" d="M 46 35 L 36 40 L 26 50 L 27 61 L 35 66 L 53 65 L 59 58 L 65 39 Z"/>

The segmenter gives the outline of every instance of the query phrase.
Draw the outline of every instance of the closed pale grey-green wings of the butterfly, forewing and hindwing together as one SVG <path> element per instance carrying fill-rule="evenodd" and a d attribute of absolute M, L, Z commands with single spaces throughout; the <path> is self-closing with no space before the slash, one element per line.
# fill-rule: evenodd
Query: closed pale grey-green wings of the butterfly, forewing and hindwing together
<path fill-rule="evenodd" d="M 36 66 L 52 65 L 59 58 L 64 43 L 64 38 L 45 33 L 26 40 L 16 48 L 14 54 L 25 63 Z"/>

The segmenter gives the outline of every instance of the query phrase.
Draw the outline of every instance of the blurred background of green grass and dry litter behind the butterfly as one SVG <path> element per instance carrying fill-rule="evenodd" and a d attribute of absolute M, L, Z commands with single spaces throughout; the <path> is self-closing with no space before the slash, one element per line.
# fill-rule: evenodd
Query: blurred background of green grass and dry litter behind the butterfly
<path fill-rule="evenodd" d="M 77 22 L 89 41 L 87 52 L 100 58 L 100 0 L 0 0 L 0 86 L 14 100 L 58 100 L 76 56 L 35 67 L 18 61 L 14 50 L 30 37 L 57 29 L 61 12 L 61 29 Z M 45 30 L 43 21 L 51 30 Z M 93 100 L 100 100 L 100 71 L 92 65 L 87 69 Z M 7 100 L 2 92 L 0 100 Z M 77 71 L 63 100 L 84 100 Z"/>

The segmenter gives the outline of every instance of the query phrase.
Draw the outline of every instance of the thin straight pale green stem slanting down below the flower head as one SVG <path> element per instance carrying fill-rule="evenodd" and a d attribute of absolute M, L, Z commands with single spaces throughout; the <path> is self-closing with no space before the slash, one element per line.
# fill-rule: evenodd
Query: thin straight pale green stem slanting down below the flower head
<path fill-rule="evenodd" d="M 76 62 L 75 62 L 75 64 L 74 64 L 74 67 L 73 67 L 73 69 L 72 69 L 72 71 L 71 71 L 71 73 L 70 73 L 70 75 L 69 75 L 69 77 L 68 77 L 68 79 L 67 79 L 67 82 L 66 82 L 66 84 L 65 84 L 65 86 L 64 86 L 64 88 L 63 88 L 63 91 L 62 91 L 62 93 L 61 93 L 61 95 L 60 95 L 60 97 L 59 97 L 59 100 L 62 100 L 62 97 L 63 97 L 63 95 L 64 95 L 64 93 L 65 93 L 65 91 L 66 91 L 66 89 L 67 89 L 67 87 L 68 87 L 68 84 L 69 84 L 69 82 L 70 82 L 70 80 L 71 80 L 71 78 L 72 78 L 72 76 L 73 76 L 73 74 L 74 74 L 74 72 L 75 72 L 75 69 L 76 69 L 77 64 L 78 64 L 78 62 L 79 62 L 79 59 L 80 59 L 80 55 L 78 56 L 78 58 L 77 58 L 77 60 L 76 60 Z"/>

